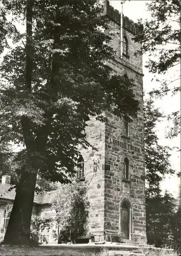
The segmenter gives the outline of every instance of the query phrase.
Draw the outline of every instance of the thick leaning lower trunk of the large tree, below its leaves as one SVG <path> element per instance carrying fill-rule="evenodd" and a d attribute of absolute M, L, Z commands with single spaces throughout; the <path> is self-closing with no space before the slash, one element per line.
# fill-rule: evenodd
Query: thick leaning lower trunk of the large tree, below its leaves
<path fill-rule="evenodd" d="M 4 244 L 29 244 L 37 172 L 23 171 L 16 190 Z"/>

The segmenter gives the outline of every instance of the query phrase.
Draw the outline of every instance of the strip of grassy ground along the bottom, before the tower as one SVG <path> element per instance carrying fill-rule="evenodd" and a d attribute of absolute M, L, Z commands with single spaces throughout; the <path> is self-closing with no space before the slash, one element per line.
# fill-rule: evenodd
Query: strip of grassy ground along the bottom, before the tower
<path fill-rule="evenodd" d="M 116 251 L 116 254 L 118 251 Z M 159 251 L 145 251 L 143 249 L 143 254 L 147 256 L 176 256 L 176 252 L 165 251 L 161 249 Z M 133 255 L 133 253 L 131 253 Z M 130 254 L 130 255 L 131 255 Z M 0 255 L 48 255 L 48 256 L 108 256 L 110 252 L 107 248 L 95 247 L 95 246 L 9 246 L 0 245 Z M 117 254 L 118 255 L 118 254 Z M 121 251 L 120 254 L 121 255 Z"/>

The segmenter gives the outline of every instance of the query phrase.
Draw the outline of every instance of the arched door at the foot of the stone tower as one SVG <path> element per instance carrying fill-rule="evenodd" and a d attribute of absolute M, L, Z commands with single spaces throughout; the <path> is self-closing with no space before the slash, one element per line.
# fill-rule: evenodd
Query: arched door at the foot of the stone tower
<path fill-rule="evenodd" d="M 120 227 L 124 234 L 124 239 L 130 239 L 130 205 L 123 201 L 120 207 Z"/>

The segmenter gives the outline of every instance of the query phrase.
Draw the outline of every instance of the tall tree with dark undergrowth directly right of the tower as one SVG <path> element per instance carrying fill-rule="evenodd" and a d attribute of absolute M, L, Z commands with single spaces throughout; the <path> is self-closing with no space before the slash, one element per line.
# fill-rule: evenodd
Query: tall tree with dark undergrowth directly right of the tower
<path fill-rule="evenodd" d="M 159 144 L 156 125 L 163 115 L 154 108 L 153 101 L 144 104 L 146 231 L 149 244 L 157 247 L 176 246 L 179 240 L 179 209 L 176 200 L 167 191 L 161 195 L 160 183 L 166 174 L 174 174 L 169 162 L 167 146 Z"/>

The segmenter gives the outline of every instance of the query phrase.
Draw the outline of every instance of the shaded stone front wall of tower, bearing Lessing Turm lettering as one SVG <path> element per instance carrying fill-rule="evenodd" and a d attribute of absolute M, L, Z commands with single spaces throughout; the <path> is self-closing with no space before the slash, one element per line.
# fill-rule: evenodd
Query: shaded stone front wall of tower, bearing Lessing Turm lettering
<path fill-rule="evenodd" d="M 120 26 L 111 22 L 112 31 Z M 120 204 L 124 198 L 130 202 L 130 239 L 146 241 L 144 140 L 143 140 L 143 81 L 142 56 L 135 53 L 140 45 L 132 39 L 131 32 L 123 30 L 128 40 L 128 56 L 120 58 L 119 33 L 111 42 L 116 51 L 115 59 L 108 61 L 115 74 L 134 80 L 136 99 L 140 102 L 138 118 L 129 124 L 129 137 L 123 137 L 123 120 L 107 113 L 106 166 L 105 170 L 105 229 L 121 231 Z M 123 161 L 130 161 L 129 182 L 123 181 Z"/>

